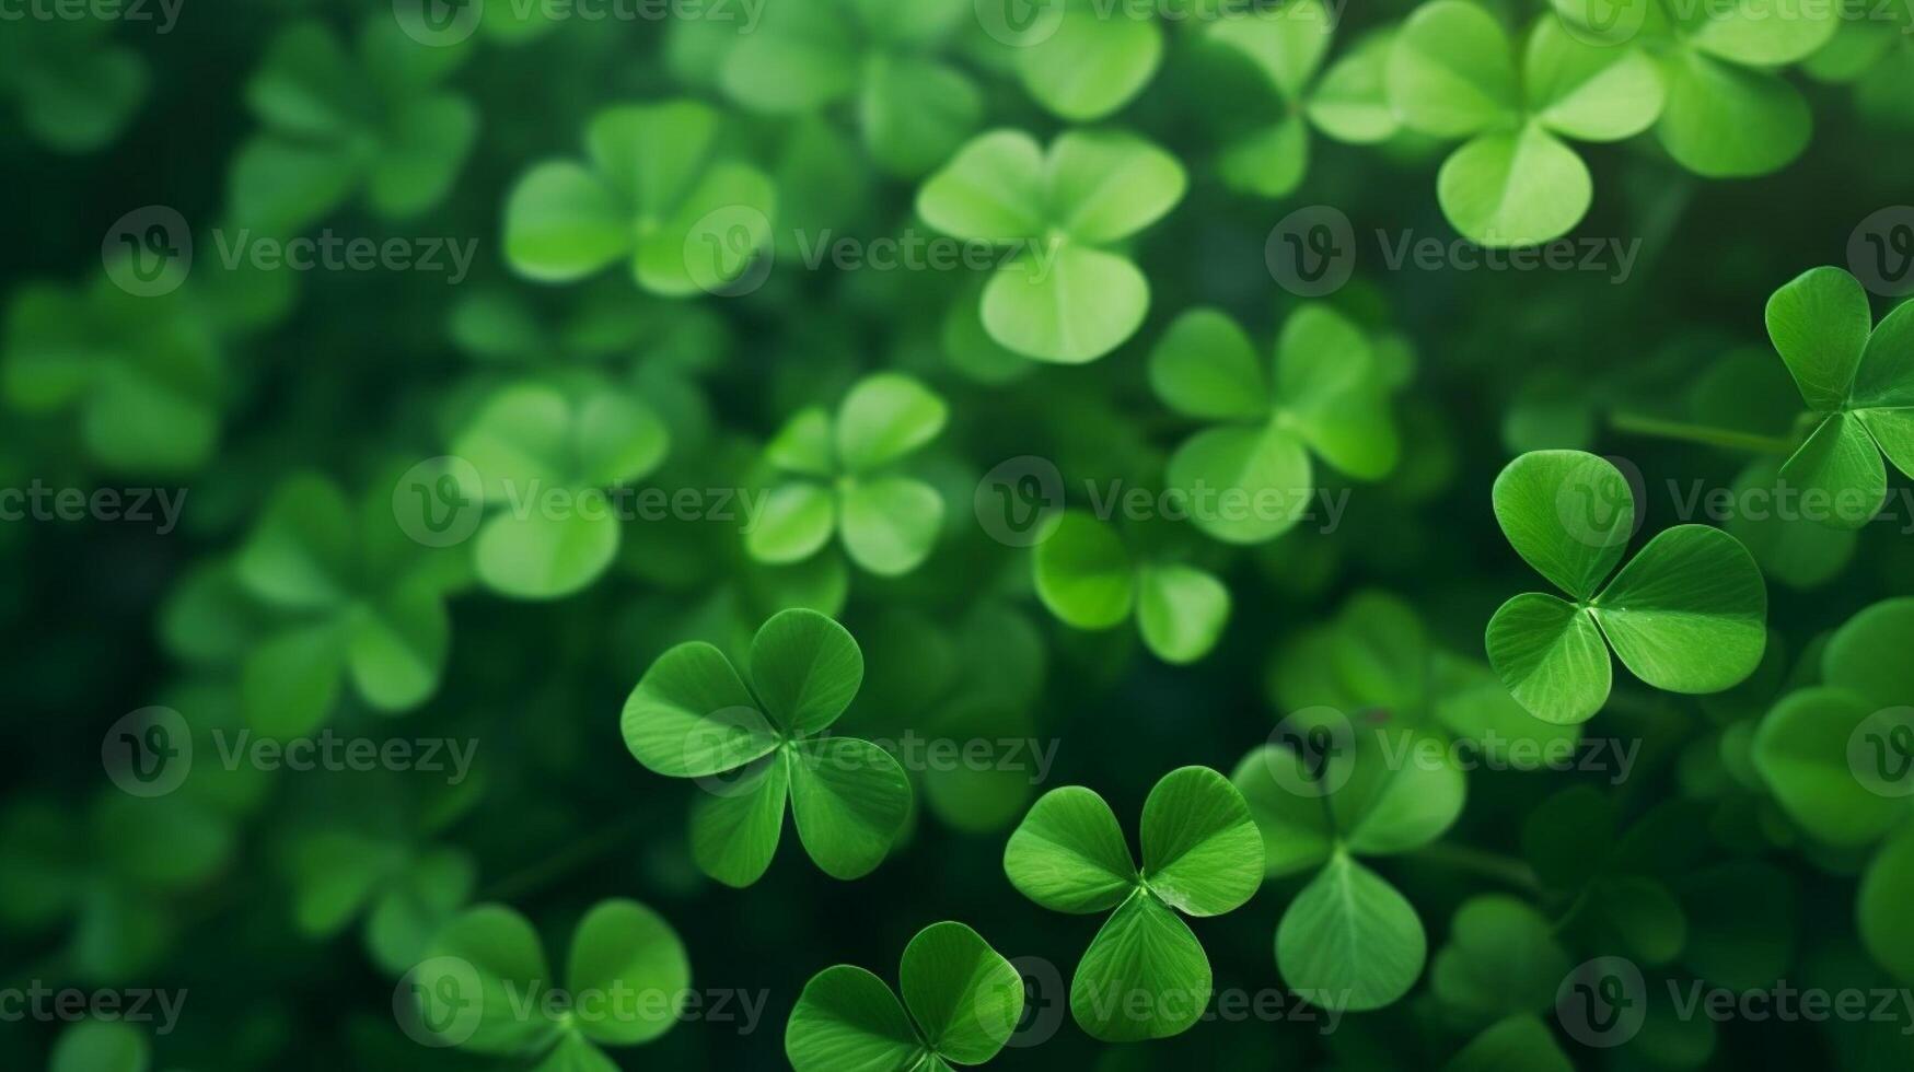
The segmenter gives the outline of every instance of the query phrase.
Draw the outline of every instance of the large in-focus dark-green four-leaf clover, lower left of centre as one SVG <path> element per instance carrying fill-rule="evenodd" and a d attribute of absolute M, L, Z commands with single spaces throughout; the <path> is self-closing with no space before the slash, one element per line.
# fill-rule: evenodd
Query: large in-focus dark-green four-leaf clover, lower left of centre
<path fill-rule="evenodd" d="M 903 829 L 911 781 L 877 745 L 823 735 L 863 683 L 857 641 L 815 611 L 783 611 L 750 641 L 750 681 L 708 643 L 672 647 L 624 703 L 626 748 L 666 777 L 735 775 L 691 810 L 691 854 L 712 879 L 764 875 L 787 796 L 817 867 L 869 875 Z"/>

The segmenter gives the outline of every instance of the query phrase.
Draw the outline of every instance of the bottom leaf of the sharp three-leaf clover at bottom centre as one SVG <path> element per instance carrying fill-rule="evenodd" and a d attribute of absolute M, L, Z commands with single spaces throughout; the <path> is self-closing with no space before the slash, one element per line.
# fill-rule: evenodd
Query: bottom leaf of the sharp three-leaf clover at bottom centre
<path fill-rule="evenodd" d="M 1202 1016 L 1210 982 L 1210 957 L 1183 917 L 1137 890 L 1078 963 L 1070 1015 L 1101 1041 L 1171 1038 Z"/>

